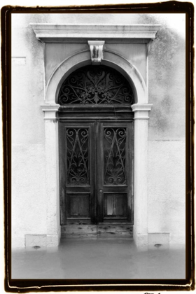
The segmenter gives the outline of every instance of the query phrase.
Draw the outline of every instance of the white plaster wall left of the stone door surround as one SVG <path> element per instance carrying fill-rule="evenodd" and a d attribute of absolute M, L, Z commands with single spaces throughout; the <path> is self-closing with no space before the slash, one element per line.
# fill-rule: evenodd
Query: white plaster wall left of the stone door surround
<path fill-rule="evenodd" d="M 46 234 L 43 44 L 21 20 L 12 31 L 12 246 Z"/>

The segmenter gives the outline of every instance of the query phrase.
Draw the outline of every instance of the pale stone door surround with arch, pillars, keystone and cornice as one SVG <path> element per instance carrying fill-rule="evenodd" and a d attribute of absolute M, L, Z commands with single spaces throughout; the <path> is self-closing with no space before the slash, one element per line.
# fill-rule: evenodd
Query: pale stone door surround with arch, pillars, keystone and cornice
<path fill-rule="evenodd" d="M 155 34 L 158 31 L 159 25 L 119 25 L 118 34 L 116 34 L 116 25 L 96 25 L 96 31 L 94 31 L 94 25 L 51 25 L 51 24 L 34 24 L 32 25 L 36 38 L 43 41 L 48 48 L 53 47 L 53 43 L 59 43 L 62 41 L 63 45 L 60 45 L 57 51 L 56 47 L 53 47 L 54 53 L 52 57 L 56 58 L 55 67 L 53 71 L 50 71 L 47 84 L 45 85 L 45 103 L 41 105 L 41 109 L 44 112 L 44 125 L 45 125 L 45 188 L 47 195 L 47 246 L 57 246 L 61 236 L 60 226 L 60 204 L 59 204 L 59 111 L 58 97 L 59 89 L 64 82 L 64 79 L 71 74 L 74 69 L 78 69 L 82 65 L 91 64 L 90 48 L 87 45 L 87 41 L 100 38 L 105 40 L 107 36 L 106 44 L 111 39 L 111 48 L 106 45 L 104 47 L 104 55 L 101 63 L 106 66 L 111 66 L 117 69 L 129 80 L 134 90 L 134 104 L 132 105 L 132 111 L 134 113 L 134 241 L 138 246 L 148 244 L 148 119 L 149 113 L 153 104 L 148 103 L 148 43 L 155 38 Z M 134 27 L 134 31 L 132 28 Z M 111 31 L 112 28 L 112 31 Z M 67 34 L 67 29 L 69 34 Z M 130 30 L 131 29 L 131 30 Z M 62 34 L 59 34 L 62 31 Z M 76 38 L 69 38 L 68 36 L 74 36 Z M 125 34 L 127 31 L 127 34 Z M 99 32 L 99 36 L 96 35 Z M 100 34 L 101 32 L 101 34 Z M 115 34 L 114 34 L 115 32 Z M 50 38 L 48 38 L 50 36 Z M 109 39 L 108 39 L 109 38 Z M 128 41 L 129 40 L 129 41 Z M 62 54 L 62 46 L 64 46 L 63 52 L 66 52 L 66 42 L 73 45 L 83 43 L 83 49 L 74 50 L 65 54 L 64 59 L 59 62 L 57 58 Z M 131 60 L 126 58 L 125 48 L 128 43 L 137 48 L 138 44 L 144 44 L 146 48 L 142 55 L 140 51 L 130 48 L 130 57 L 133 52 L 136 54 L 137 59 Z M 120 42 L 120 52 L 116 51 L 116 43 Z M 139 46 L 140 46 L 139 45 Z M 47 51 L 47 50 L 46 50 Z M 50 56 L 45 51 L 45 72 L 50 69 Z M 144 75 L 141 73 L 141 57 L 144 58 L 142 68 Z M 136 62 L 139 60 L 139 64 Z M 49 62 L 49 63 L 48 63 Z M 146 76 L 146 78 L 145 78 Z M 105 109 L 110 109 L 109 106 L 105 106 Z M 78 105 L 72 105 L 72 116 L 67 107 L 67 120 L 73 119 L 73 113 L 76 117 L 78 113 L 81 113 L 81 108 Z M 123 108 L 123 107 L 122 107 Z M 93 109 L 93 107 L 92 107 Z M 95 109 L 95 107 L 94 107 Z M 99 112 L 99 106 L 96 106 L 97 116 Z M 94 116 L 96 116 L 96 109 L 94 110 Z M 73 112 L 74 110 L 74 112 Z M 113 113 L 118 113 L 120 117 L 120 108 L 115 106 Z M 119 110 L 119 111 L 117 111 Z M 124 111 L 121 112 L 121 118 L 123 113 L 130 113 L 130 120 L 132 120 L 132 111 L 129 106 L 124 107 Z M 66 111 L 65 111 L 66 112 Z M 86 115 L 86 113 L 85 113 Z M 81 116 L 84 117 L 84 114 Z M 116 115 L 113 117 L 116 119 Z M 120 120 L 119 120 L 120 121 Z M 62 207 L 62 206 L 61 206 Z"/>

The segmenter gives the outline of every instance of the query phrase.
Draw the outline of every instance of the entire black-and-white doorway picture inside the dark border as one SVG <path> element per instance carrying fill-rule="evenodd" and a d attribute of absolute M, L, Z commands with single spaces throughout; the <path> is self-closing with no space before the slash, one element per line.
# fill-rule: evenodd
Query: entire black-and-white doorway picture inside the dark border
<path fill-rule="evenodd" d="M 14 281 L 186 280 L 187 18 L 12 11 Z"/>

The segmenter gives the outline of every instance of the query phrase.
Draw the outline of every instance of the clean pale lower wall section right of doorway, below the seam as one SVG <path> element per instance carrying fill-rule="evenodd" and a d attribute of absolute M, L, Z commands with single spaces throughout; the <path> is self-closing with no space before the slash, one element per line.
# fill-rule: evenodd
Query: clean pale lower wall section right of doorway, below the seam
<path fill-rule="evenodd" d="M 185 141 L 148 141 L 148 233 L 185 243 Z"/>

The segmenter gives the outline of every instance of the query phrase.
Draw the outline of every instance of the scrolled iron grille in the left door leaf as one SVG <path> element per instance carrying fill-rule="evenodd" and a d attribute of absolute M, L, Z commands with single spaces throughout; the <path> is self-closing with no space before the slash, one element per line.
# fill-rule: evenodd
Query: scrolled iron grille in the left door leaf
<path fill-rule="evenodd" d="M 67 128 L 67 184 L 81 186 L 89 184 L 88 128 Z"/>

